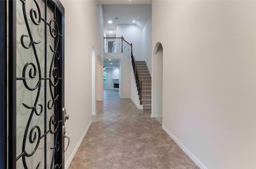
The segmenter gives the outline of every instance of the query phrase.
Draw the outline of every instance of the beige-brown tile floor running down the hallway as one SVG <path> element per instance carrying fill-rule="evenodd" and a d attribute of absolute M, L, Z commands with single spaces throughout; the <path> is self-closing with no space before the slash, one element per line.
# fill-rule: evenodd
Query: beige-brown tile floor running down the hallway
<path fill-rule="evenodd" d="M 69 169 L 199 169 L 151 118 L 118 90 L 104 90 L 98 114 Z"/>

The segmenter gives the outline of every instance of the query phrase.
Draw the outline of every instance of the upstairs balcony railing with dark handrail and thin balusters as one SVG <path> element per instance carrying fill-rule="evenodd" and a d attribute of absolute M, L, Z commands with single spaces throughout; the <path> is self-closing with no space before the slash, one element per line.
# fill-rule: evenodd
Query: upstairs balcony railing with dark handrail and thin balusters
<path fill-rule="evenodd" d="M 132 56 L 132 43 L 128 43 L 124 37 L 104 37 L 105 53 L 123 53 L 127 58 Z"/>

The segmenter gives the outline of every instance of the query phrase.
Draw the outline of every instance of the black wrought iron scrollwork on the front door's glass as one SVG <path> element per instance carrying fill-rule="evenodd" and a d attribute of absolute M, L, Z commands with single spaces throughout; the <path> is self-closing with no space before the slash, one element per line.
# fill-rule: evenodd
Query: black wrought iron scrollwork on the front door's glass
<path fill-rule="evenodd" d="M 52 88 L 57 87 L 59 80 L 61 79 L 58 68 L 54 67 L 54 61 L 60 59 L 60 53 L 58 52 L 60 31 L 59 31 L 58 24 L 56 22 L 56 18 L 50 20 L 50 22 L 48 23 L 46 19 L 41 17 L 41 12 L 40 12 L 38 2 L 36 0 L 34 0 L 33 2 L 36 5 L 36 10 L 30 9 L 30 20 L 32 21 L 32 23 L 35 26 L 38 26 L 41 23 L 46 24 L 49 27 L 51 37 L 55 39 L 54 48 L 52 48 L 52 46 L 49 45 L 50 50 L 53 53 L 52 61 L 51 61 L 51 65 L 50 65 L 49 77 L 46 77 L 47 75 L 45 75 L 45 77 L 42 78 L 40 62 L 38 59 L 38 54 L 37 54 L 37 49 L 36 49 L 36 45 L 41 43 L 41 41 L 34 41 L 34 39 L 33 39 L 30 25 L 28 24 L 27 14 L 26 14 L 26 0 L 20 0 L 20 2 L 22 2 L 22 12 L 23 12 L 24 21 L 26 24 L 26 29 L 28 31 L 28 35 L 23 34 L 20 37 L 20 43 L 21 43 L 22 47 L 24 47 L 24 49 L 30 49 L 32 47 L 36 63 L 33 63 L 33 62 L 26 63 L 22 70 L 22 77 L 18 77 L 17 80 L 22 80 L 23 84 L 27 90 L 30 90 L 30 91 L 37 90 L 37 94 L 36 94 L 36 98 L 34 100 L 34 104 L 32 106 L 22 103 L 25 108 L 31 109 L 31 112 L 30 112 L 30 116 L 28 118 L 28 122 L 26 124 L 25 132 L 24 132 L 24 138 L 23 138 L 23 142 L 22 142 L 22 153 L 16 157 L 16 160 L 22 158 L 22 163 L 24 165 L 24 168 L 27 169 L 28 165 L 26 162 L 26 157 L 31 157 L 32 155 L 34 155 L 34 153 L 38 149 L 40 140 L 43 139 L 44 137 L 46 137 L 46 135 L 48 133 L 55 134 L 54 146 L 50 147 L 50 149 L 53 149 L 51 169 L 53 166 L 54 166 L 54 169 L 59 169 L 62 164 L 54 165 L 54 157 L 55 157 L 55 153 L 60 150 L 60 142 L 58 142 L 57 140 L 58 140 L 58 129 L 59 129 L 61 120 L 59 118 L 58 108 L 56 105 L 56 100 L 58 99 L 58 95 L 54 96 L 54 92 L 53 92 Z M 47 0 L 45 1 L 45 3 L 47 5 Z M 47 7 L 46 5 L 45 5 L 45 7 Z M 41 21 L 43 21 L 43 22 L 41 22 Z M 45 34 L 46 34 L 46 30 L 45 30 Z M 25 45 L 25 43 L 24 43 L 25 38 L 29 39 L 28 45 Z M 46 41 L 45 41 L 45 43 L 46 43 Z M 29 69 L 29 71 L 28 71 L 28 69 Z M 46 67 L 44 69 L 46 69 Z M 28 76 L 26 76 L 26 75 L 28 75 Z M 32 79 L 34 79 L 34 80 L 38 79 L 35 86 L 28 85 L 28 80 L 32 80 Z M 50 95 L 51 95 L 51 100 L 48 100 L 47 108 L 49 110 L 51 110 L 53 107 L 55 107 L 55 109 L 54 109 L 54 114 L 52 114 L 52 116 L 50 117 L 49 125 L 44 124 L 45 126 L 46 125 L 49 126 L 49 129 L 44 134 L 42 134 L 42 131 L 39 126 L 35 125 L 31 128 L 30 124 L 31 124 L 31 120 L 32 120 L 34 114 L 36 114 L 36 116 L 41 116 L 42 112 L 43 111 L 46 112 L 46 109 L 47 109 L 46 107 L 43 108 L 42 104 L 38 104 L 38 98 L 40 95 L 41 85 L 42 85 L 42 81 L 44 81 L 44 80 L 45 81 L 49 80 Z M 46 86 L 44 86 L 44 87 L 46 87 Z M 46 102 L 46 98 L 44 98 L 44 99 Z M 40 111 L 38 111 L 37 108 Z M 54 127 L 52 127 L 52 126 L 54 126 Z M 29 128 L 31 128 L 31 129 L 29 130 Z M 29 143 L 35 144 L 34 149 L 32 150 L 31 153 L 28 153 L 26 151 L 26 143 L 27 143 L 26 140 L 27 139 L 29 139 Z M 46 146 L 46 145 L 44 145 L 44 146 Z M 44 159 L 44 160 L 46 160 L 46 159 Z M 42 161 L 40 161 L 36 165 L 37 166 L 36 168 L 40 167 L 41 162 Z"/>

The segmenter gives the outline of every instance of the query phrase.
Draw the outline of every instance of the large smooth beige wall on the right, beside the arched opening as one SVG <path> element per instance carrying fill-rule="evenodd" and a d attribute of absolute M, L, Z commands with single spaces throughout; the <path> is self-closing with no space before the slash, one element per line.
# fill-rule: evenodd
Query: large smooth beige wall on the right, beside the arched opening
<path fill-rule="evenodd" d="M 256 1 L 153 0 L 158 42 L 163 126 L 209 169 L 256 168 Z"/>

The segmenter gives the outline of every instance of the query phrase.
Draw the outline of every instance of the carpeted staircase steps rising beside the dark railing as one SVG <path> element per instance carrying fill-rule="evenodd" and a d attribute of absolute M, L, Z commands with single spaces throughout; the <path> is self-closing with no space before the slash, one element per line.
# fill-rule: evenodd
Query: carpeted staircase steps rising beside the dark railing
<path fill-rule="evenodd" d="M 142 81 L 143 109 L 151 110 L 151 77 L 145 61 L 136 61 L 140 80 Z"/>

